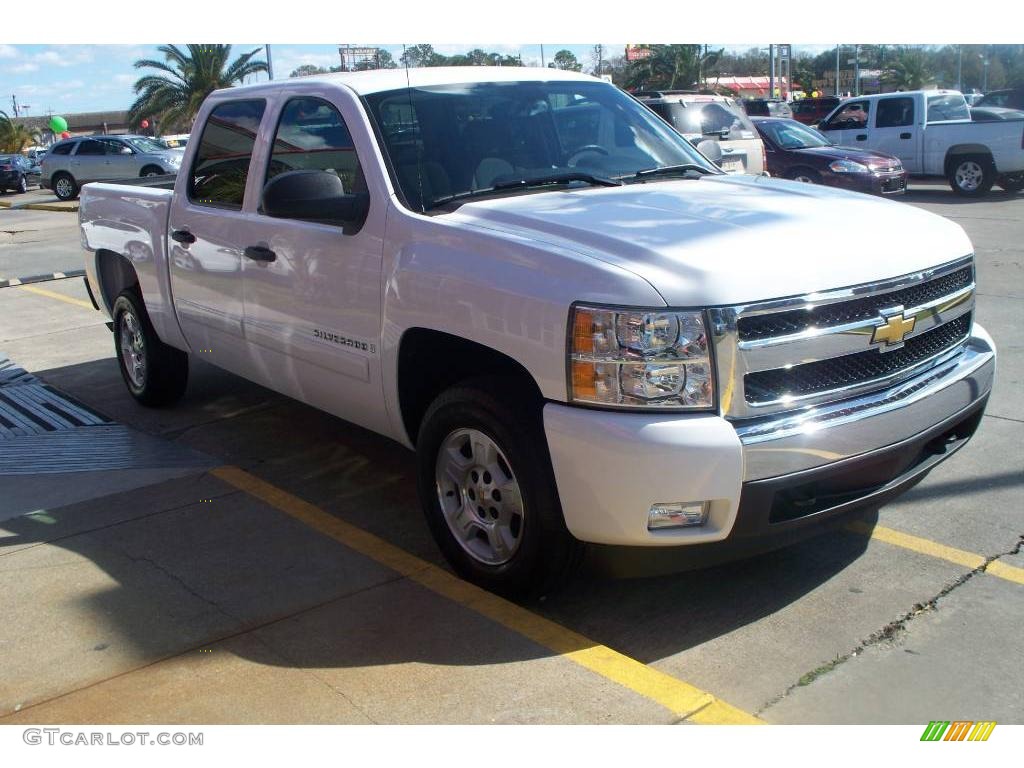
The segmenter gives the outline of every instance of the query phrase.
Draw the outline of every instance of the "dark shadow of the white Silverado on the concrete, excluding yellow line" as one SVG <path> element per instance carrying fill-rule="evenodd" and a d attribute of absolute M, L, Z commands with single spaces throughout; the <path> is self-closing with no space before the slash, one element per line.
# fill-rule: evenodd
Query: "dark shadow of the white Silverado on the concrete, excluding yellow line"
<path fill-rule="evenodd" d="M 443 565 L 419 509 L 413 455 L 386 438 L 204 367 L 185 395 L 183 421 L 173 411 L 153 421 L 154 412 L 124 393 L 112 358 L 37 375 L 129 426 L 241 466 Z M 225 409 L 228 401 L 239 408 Z M 34 557 L 67 568 L 57 578 L 69 580 L 68 594 L 51 586 L 28 610 L 34 632 L 61 627 L 62 639 L 46 650 L 53 663 L 93 659 L 108 648 L 152 660 L 248 632 L 258 642 L 232 652 L 274 666 L 462 667 L 552 655 L 210 475 L 40 511 L 0 528 L 9 535 L 0 538 L 0 555 L 49 543 Z M 827 532 L 672 577 L 585 573 L 524 606 L 650 663 L 799 600 L 856 561 L 866 543 Z"/>

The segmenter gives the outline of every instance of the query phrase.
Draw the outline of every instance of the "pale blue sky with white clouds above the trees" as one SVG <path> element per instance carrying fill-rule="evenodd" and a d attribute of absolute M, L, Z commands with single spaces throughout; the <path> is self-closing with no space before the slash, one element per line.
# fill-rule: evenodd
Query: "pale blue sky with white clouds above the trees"
<path fill-rule="evenodd" d="M 232 53 L 261 47 L 261 43 L 238 44 Z M 364 45 L 359 43 L 359 45 Z M 401 55 L 401 45 L 379 46 L 391 51 L 395 60 Z M 605 56 L 623 54 L 625 44 L 604 43 Z M 721 44 L 719 44 L 721 45 Z M 719 47 L 716 45 L 715 47 Z M 762 47 L 766 47 L 765 46 Z M 745 50 L 752 45 L 725 46 Z M 794 46 L 794 52 L 807 50 L 817 53 L 829 45 Z M 486 51 L 519 54 L 526 66 L 541 65 L 540 45 L 509 45 L 466 43 L 464 45 L 435 45 L 439 53 L 451 55 L 465 53 L 473 48 Z M 545 58 L 550 61 L 560 48 L 571 50 L 589 69 L 592 45 L 545 44 Z M 303 63 L 318 67 L 338 65 L 337 45 L 271 45 L 274 76 L 287 77 Z M 139 58 L 161 58 L 156 46 L 135 45 L 6 45 L 0 43 L 0 110 L 11 114 L 11 95 L 17 96 L 19 105 L 28 104 L 23 115 L 45 115 L 52 112 L 62 115 L 99 110 L 126 110 L 134 100 L 132 84 L 145 71 L 136 70 L 133 63 Z M 264 79 L 266 76 L 260 76 Z"/>

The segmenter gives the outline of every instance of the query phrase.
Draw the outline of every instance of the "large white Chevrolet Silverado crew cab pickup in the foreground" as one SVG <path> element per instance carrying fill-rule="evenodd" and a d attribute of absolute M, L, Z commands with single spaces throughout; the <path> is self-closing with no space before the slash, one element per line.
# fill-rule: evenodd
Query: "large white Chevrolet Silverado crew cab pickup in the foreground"
<path fill-rule="evenodd" d="M 724 174 L 575 73 L 217 91 L 175 181 L 86 184 L 79 215 L 135 398 L 202 351 L 415 449 L 440 549 L 504 593 L 877 507 L 992 385 L 959 226 Z M 858 220 L 885 248 L 833 237 Z M 792 245 L 815 228 L 828 258 Z"/>

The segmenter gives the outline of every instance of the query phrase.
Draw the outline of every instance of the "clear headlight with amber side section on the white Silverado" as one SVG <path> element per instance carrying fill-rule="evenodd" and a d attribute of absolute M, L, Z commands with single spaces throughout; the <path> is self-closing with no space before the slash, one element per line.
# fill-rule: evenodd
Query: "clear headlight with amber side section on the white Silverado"
<path fill-rule="evenodd" d="M 625 408 L 714 407 L 702 312 L 578 306 L 571 319 L 570 400 Z"/>

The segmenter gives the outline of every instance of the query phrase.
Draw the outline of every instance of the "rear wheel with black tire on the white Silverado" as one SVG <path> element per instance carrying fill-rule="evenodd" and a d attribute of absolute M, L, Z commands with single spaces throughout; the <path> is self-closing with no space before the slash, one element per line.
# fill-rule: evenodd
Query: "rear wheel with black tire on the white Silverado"
<path fill-rule="evenodd" d="M 176 402 L 188 384 L 188 355 L 160 340 L 136 287 L 121 292 L 114 301 L 113 314 L 114 351 L 132 397 L 143 406 Z M 133 334 L 134 338 L 126 339 L 127 334 Z M 141 370 L 133 367 L 133 372 L 129 373 L 128 352 L 123 340 L 140 356 Z"/>

